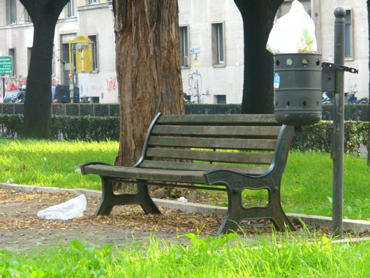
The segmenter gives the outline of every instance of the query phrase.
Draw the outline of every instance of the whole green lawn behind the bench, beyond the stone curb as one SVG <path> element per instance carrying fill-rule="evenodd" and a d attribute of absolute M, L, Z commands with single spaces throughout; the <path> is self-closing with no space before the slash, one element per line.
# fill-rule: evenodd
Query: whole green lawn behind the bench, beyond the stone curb
<path fill-rule="evenodd" d="M 99 176 L 82 176 L 79 165 L 90 161 L 113 164 L 117 154 L 117 142 L 0 140 L 0 182 L 13 179 L 16 184 L 99 190 Z M 366 166 L 366 159 L 345 155 L 345 218 L 369 220 L 369 181 L 370 169 Z M 281 188 L 285 212 L 331 216 L 330 155 L 291 152 Z M 266 190 L 245 190 L 243 195 L 248 204 L 263 204 L 267 199 Z"/>

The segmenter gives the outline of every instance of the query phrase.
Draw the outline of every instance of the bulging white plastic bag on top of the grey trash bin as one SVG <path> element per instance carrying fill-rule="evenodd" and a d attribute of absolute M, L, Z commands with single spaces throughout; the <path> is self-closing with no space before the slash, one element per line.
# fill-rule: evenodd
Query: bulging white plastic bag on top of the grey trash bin
<path fill-rule="evenodd" d="M 266 49 L 272 54 L 317 52 L 315 25 L 298 0 L 272 27 Z"/>

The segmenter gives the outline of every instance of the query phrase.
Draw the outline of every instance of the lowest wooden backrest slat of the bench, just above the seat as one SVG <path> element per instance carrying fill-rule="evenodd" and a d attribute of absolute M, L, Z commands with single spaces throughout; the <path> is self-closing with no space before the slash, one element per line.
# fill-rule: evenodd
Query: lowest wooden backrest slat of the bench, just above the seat
<path fill-rule="evenodd" d="M 224 164 L 206 164 L 206 163 L 186 163 L 186 162 L 169 162 L 144 160 L 140 168 L 163 169 L 163 170 L 182 170 L 182 171 L 199 171 L 204 173 L 210 170 L 229 170 L 245 175 L 259 176 L 268 170 L 268 167 L 248 167 Z"/>

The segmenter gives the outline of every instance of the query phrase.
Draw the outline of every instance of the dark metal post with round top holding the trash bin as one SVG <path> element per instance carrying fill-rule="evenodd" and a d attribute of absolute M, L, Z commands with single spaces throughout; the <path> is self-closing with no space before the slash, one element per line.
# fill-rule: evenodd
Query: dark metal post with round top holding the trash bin
<path fill-rule="evenodd" d="M 334 11 L 334 64 L 344 65 L 345 10 Z M 343 223 L 343 156 L 344 156 L 344 71 L 335 70 L 334 92 L 334 156 L 333 156 L 333 215 L 332 233 L 342 237 Z"/>

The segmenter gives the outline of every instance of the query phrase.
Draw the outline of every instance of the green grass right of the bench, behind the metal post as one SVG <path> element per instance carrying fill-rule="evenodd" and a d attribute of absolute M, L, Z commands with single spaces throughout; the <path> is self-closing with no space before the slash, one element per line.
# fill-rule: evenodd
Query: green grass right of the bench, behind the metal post
<path fill-rule="evenodd" d="M 366 163 L 365 158 L 344 155 L 344 218 L 370 218 L 370 168 Z M 331 216 L 332 166 L 329 154 L 290 153 L 281 181 L 284 210 Z"/>

